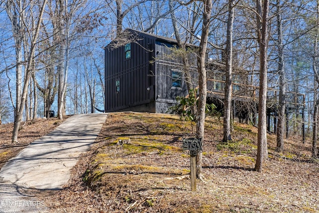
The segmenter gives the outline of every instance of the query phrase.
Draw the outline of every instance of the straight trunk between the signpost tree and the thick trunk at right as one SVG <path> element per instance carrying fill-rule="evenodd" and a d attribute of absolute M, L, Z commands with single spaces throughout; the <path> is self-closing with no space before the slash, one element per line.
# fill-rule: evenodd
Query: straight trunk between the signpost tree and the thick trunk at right
<path fill-rule="evenodd" d="M 232 98 L 232 57 L 233 57 L 233 22 L 234 0 L 228 2 L 227 41 L 226 41 L 226 84 L 224 98 L 223 142 L 231 140 L 231 98 Z"/>

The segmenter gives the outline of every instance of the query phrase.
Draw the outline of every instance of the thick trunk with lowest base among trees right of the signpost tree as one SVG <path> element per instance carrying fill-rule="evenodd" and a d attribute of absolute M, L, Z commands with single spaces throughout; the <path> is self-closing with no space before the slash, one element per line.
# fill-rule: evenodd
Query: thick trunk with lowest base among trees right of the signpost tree
<path fill-rule="evenodd" d="M 261 0 L 257 0 L 257 8 L 261 8 Z M 268 47 L 268 10 L 269 1 L 264 0 L 262 12 L 262 28 L 259 42 L 260 52 L 260 77 L 259 77 L 259 105 L 258 105 L 258 148 L 255 170 L 262 172 L 263 161 L 268 159 L 267 150 L 267 47 Z M 257 17 L 257 23 L 259 22 Z"/>

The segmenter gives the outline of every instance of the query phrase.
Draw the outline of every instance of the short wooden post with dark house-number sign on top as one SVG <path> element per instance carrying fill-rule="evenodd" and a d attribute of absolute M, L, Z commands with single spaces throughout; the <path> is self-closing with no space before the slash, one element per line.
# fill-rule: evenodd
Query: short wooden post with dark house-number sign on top
<path fill-rule="evenodd" d="M 202 150 L 201 138 L 183 139 L 183 150 L 188 150 L 190 155 L 190 189 L 196 192 L 196 156 Z"/>

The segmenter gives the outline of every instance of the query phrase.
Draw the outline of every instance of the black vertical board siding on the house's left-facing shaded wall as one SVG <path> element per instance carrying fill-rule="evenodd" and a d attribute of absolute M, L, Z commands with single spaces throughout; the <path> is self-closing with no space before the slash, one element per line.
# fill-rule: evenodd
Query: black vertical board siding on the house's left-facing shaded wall
<path fill-rule="evenodd" d="M 131 58 L 125 59 L 125 47 L 105 48 L 105 110 L 116 111 L 124 108 L 147 104 L 154 101 L 154 90 L 147 90 L 149 67 L 153 52 L 148 45 L 154 38 L 144 37 L 131 43 Z M 116 93 L 115 82 L 120 80 L 120 93 Z M 154 110 L 153 110 L 154 111 Z"/>

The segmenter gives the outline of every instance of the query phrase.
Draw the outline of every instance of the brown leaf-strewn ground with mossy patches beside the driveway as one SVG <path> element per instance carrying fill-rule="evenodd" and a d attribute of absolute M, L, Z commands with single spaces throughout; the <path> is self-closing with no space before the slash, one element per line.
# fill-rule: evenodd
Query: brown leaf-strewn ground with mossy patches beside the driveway
<path fill-rule="evenodd" d="M 14 145 L 2 142 L 2 126 L 0 153 L 10 152 Z M 110 114 L 65 189 L 37 196 L 51 213 L 319 212 L 319 164 L 310 157 L 310 141 L 290 138 L 277 153 L 269 134 L 269 160 L 258 173 L 255 127 L 235 122 L 227 144 L 220 141 L 222 119 L 208 117 L 205 129 L 196 192 L 190 191 L 189 155 L 181 149 L 194 124 L 175 115 L 119 112 Z"/>

